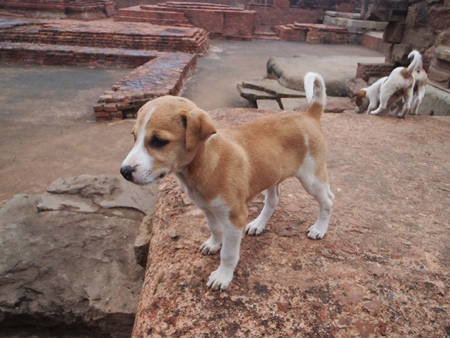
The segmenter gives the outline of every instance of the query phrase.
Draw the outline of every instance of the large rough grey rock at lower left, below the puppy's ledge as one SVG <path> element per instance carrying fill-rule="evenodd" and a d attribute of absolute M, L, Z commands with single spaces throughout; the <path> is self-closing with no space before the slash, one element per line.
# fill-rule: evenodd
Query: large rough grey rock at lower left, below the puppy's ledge
<path fill-rule="evenodd" d="M 82 175 L 5 205 L 0 332 L 129 337 L 143 277 L 133 243 L 153 204 L 152 187 Z"/>

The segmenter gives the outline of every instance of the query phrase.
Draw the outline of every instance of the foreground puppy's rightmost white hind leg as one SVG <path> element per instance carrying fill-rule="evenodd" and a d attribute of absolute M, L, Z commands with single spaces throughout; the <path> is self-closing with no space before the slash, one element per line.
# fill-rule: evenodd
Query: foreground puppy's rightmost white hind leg
<path fill-rule="evenodd" d="M 308 229 L 308 237 L 311 239 L 320 239 L 325 236 L 328 230 L 328 224 L 333 210 L 334 195 L 330 190 L 326 167 L 323 167 L 322 175 L 320 175 L 325 179 L 319 180 L 318 175 L 314 171 L 314 161 L 311 160 L 310 162 L 312 163 L 303 163 L 296 177 L 300 180 L 305 190 L 319 203 L 319 217 L 317 222 Z"/>

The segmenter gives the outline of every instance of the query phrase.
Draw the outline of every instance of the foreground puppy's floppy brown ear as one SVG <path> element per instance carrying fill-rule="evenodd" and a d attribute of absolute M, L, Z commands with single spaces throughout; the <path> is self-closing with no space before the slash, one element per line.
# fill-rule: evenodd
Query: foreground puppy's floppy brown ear
<path fill-rule="evenodd" d="M 193 109 L 181 116 L 186 128 L 186 150 L 194 150 L 201 142 L 216 133 L 216 127 L 208 113 Z"/>

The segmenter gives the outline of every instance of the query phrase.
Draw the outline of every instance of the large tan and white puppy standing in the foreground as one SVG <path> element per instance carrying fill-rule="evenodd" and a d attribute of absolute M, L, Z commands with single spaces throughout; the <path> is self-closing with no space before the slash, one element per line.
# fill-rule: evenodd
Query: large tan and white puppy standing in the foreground
<path fill-rule="evenodd" d="M 121 174 L 136 184 L 157 182 L 169 173 L 202 209 L 211 237 L 203 254 L 220 252 L 220 266 L 207 286 L 228 288 L 239 260 L 244 230 L 259 235 L 278 204 L 278 185 L 297 177 L 319 202 L 317 222 L 308 237 L 328 229 L 334 196 L 326 167 L 320 117 L 326 101 L 319 74 L 305 76 L 310 108 L 283 112 L 238 127 L 216 130 L 210 116 L 191 101 L 165 96 L 145 104 L 133 128 L 135 144 Z M 266 191 L 261 214 L 246 226 L 246 203 Z"/>

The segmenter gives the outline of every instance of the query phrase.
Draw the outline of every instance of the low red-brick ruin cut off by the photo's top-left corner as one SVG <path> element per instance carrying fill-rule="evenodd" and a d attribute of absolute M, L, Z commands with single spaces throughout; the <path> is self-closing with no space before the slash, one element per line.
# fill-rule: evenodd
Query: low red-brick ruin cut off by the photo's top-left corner
<path fill-rule="evenodd" d="M 0 10 L 38 17 L 100 19 L 114 14 L 111 0 L 0 0 Z"/>

